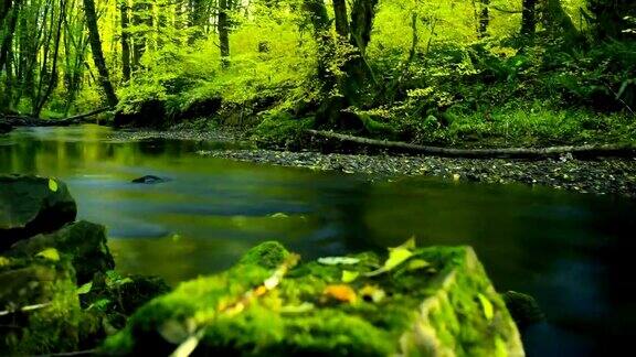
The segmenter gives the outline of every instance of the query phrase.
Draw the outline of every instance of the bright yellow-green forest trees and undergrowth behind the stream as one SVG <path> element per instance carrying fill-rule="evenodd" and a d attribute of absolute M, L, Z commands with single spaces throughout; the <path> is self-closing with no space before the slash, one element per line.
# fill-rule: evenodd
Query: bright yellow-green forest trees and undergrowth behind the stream
<path fill-rule="evenodd" d="M 3 0 L 0 31 L 0 111 L 35 118 L 311 118 L 444 142 L 457 118 L 636 102 L 629 0 Z"/>

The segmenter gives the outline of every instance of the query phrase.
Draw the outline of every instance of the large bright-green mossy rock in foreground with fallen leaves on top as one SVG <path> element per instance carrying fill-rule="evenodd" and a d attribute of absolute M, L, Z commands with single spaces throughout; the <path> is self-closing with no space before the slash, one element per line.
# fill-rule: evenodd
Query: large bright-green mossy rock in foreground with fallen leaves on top
<path fill-rule="evenodd" d="M 395 256 L 384 266 L 361 253 L 292 267 L 294 255 L 267 242 L 234 268 L 152 300 L 103 351 L 523 355 L 517 326 L 473 249 L 414 249 L 398 264 Z"/>

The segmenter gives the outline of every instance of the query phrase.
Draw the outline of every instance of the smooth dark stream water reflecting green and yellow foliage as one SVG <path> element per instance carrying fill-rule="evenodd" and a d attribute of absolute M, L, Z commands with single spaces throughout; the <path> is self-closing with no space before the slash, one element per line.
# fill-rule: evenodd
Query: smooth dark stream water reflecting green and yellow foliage
<path fill-rule="evenodd" d="M 114 141 L 110 129 L 0 136 L 0 173 L 66 182 L 80 218 L 108 227 L 118 270 L 172 284 L 230 267 L 276 239 L 305 258 L 420 245 L 470 245 L 499 291 L 532 294 L 548 324 L 530 356 L 600 355 L 636 333 L 636 204 L 517 185 L 379 180 L 203 158 L 226 143 Z M 134 184 L 144 175 L 167 177 Z"/>

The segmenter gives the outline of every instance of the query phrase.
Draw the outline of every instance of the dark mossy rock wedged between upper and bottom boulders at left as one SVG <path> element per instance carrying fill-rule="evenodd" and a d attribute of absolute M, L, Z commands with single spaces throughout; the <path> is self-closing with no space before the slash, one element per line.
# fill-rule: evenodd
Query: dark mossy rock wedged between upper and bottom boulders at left
<path fill-rule="evenodd" d="M 106 228 L 85 220 L 68 224 L 52 234 L 18 241 L 7 255 L 32 258 L 47 248 L 68 256 L 81 284 L 93 280 L 97 272 L 115 269 L 115 260 L 106 245 Z"/>

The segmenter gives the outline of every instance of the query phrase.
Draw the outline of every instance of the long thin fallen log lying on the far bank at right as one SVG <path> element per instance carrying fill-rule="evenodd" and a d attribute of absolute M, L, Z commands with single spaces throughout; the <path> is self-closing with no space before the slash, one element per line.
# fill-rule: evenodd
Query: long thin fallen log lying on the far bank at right
<path fill-rule="evenodd" d="M 403 153 L 424 154 L 446 158 L 470 159 L 544 159 L 572 154 L 575 156 L 636 156 L 634 144 L 587 144 L 551 148 L 505 148 L 505 149 L 453 149 L 418 145 L 400 141 L 377 140 L 354 136 L 341 134 L 332 131 L 307 130 L 315 137 L 336 139 L 364 147 L 386 149 Z"/>

